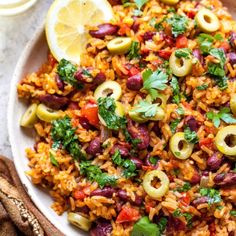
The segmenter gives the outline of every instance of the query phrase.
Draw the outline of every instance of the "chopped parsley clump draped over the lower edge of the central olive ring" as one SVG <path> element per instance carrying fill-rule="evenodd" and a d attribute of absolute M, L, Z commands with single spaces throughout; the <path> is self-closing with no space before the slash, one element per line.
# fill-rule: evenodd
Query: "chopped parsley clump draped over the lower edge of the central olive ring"
<path fill-rule="evenodd" d="M 107 128 L 112 130 L 124 129 L 126 118 L 118 116 L 115 112 L 116 103 L 114 98 L 100 97 L 98 99 L 98 113 L 105 121 Z"/>

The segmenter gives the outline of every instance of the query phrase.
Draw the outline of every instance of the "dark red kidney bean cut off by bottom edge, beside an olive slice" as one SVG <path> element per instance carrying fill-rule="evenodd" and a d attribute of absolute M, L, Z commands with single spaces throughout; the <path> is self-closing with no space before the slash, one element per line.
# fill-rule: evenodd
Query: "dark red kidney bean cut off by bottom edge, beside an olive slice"
<path fill-rule="evenodd" d="M 96 221 L 96 226 L 90 230 L 89 234 L 90 236 L 108 236 L 111 231 L 112 225 L 110 221 L 101 218 Z"/>

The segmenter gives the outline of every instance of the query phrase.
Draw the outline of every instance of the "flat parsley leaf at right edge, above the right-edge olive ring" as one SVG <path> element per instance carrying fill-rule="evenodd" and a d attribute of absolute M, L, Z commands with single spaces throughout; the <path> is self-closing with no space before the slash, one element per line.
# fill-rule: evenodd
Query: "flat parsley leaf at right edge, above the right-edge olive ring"
<path fill-rule="evenodd" d="M 209 120 L 212 120 L 214 126 L 218 128 L 220 126 L 220 120 L 223 120 L 227 124 L 235 124 L 236 119 L 230 114 L 230 109 L 228 107 L 223 107 L 218 113 L 213 111 L 207 112 L 206 116 Z"/>

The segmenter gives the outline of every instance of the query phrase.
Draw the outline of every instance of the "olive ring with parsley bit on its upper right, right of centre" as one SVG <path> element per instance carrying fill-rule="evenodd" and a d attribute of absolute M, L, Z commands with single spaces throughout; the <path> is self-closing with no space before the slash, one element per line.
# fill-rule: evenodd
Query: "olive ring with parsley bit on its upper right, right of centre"
<path fill-rule="evenodd" d="M 170 139 L 170 150 L 178 159 L 185 160 L 193 152 L 194 144 L 189 143 L 184 138 L 183 132 L 175 133 Z"/>

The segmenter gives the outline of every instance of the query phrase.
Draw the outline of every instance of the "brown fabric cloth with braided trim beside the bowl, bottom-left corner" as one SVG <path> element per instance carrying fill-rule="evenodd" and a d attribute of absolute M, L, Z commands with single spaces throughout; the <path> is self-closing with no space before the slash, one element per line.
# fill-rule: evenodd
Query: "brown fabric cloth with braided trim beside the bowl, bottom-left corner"
<path fill-rule="evenodd" d="M 13 162 L 0 156 L 0 236 L 63 236 L 34 206 Z"/>

